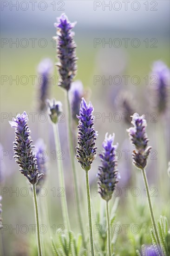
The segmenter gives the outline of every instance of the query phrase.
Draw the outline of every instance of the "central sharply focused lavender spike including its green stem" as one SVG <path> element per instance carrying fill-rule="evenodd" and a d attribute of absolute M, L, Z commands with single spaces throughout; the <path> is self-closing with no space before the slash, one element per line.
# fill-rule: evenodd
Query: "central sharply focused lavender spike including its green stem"
<path fill-rule="evenodd" d="M 78 147 L 76 158 L 81 165 L 81 168 L 85 170 L 86 181 L 86 193 L 87 193 L 87 205 L 88 205 L 88 218 L 89 218 L 89 233 L 90 233 L 90 245 L 91 254 L 94 255 L 93 249 L 93 235 L 92 235 L 92 214 L 91 214 L 91 199 L 89 189 L 88 171 L 92 167 L 92 162 L 96 156 L 95 140 L 97 132 L 94 130 L 94 116 L 92 112 L 94 108 L 90 102 L 87 105 L 84 98 L 82 98 L 78 121 Z"/>

